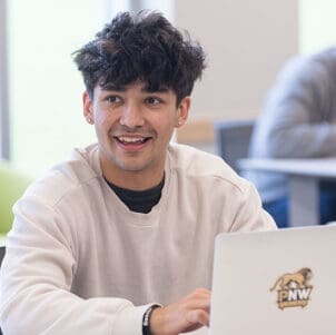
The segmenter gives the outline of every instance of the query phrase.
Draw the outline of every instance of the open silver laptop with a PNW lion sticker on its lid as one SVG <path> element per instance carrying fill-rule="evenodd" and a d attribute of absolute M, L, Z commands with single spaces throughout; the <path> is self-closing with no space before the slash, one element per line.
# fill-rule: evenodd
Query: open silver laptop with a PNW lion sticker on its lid
<path fill-rule="evenodd" d="M 335 335 L 336 225 L 216 238 L 210 335 Z"/>

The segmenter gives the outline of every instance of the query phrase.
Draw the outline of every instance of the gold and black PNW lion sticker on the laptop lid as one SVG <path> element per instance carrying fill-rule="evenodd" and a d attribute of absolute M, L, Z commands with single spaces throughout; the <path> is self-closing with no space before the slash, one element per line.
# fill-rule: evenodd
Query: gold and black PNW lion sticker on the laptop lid
<path fill-rule="evenodd" d="M 313 272 L 308 267 L 304 267 L 296 273 L 280 276 L 274 286 L 269 288 L 270 292 L 277 288 L 278 307 L 280 309 L 287 307 L 306 307 L 313 290 L 313 286 L 309 284 L 312 277 Z"/>

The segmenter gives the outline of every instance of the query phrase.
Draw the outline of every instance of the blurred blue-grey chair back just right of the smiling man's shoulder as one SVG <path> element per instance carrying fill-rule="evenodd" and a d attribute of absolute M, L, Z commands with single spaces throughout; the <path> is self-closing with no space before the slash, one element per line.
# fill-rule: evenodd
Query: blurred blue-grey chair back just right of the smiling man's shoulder
<path fill-rule="evenodd" d="M 254 120 L 215 121 L 215 145 L 219 155 L 239 173 L 237 161 L 247 158 Z"/>

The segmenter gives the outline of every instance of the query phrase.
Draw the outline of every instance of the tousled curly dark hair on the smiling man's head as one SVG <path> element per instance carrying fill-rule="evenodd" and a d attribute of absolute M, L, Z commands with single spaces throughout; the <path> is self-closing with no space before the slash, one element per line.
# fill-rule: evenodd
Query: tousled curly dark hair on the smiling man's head
<path fill-rule="evenodd" d="M 172 89 L 179 105 L 205 69 L 199 43 L 158 12 L 119 13 L 73 53 L 91 98 L 97 85 L 122 87 L 140 80 L 150 91 Z"/>

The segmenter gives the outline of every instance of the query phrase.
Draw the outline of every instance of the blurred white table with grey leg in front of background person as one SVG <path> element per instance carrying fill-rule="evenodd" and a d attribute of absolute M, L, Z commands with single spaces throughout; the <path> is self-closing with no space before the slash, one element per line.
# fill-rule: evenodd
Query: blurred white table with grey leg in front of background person
<path fill-rule="evenodd" d="M 319 224 L 319 181 L 336 180 L 336 158 L 240 159 L 240 169 L 281 173 L 288 177 L 289 225 Z"/>

